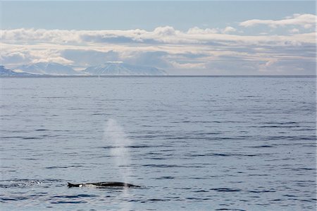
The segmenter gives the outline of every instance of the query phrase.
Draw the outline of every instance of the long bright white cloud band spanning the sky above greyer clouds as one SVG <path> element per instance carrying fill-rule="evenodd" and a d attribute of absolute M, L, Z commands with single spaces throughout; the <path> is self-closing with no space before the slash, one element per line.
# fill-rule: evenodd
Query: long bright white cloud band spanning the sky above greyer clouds
<path fill-rule="evenodd" d="M 302 19 L 301 19 L 302 20 Z M 250 20 L 251 21 L 251 20 Z M 254 24 L 252 23 L 247 23 Z M 233 35 L 230 26 L 223 30 L 191 28 L 187 32 L 170 26 L 146 30 L 1 30 L 1 40 L 6 44 L 299 44 L 315 43 L 316 33 L 301 35 Z"/>

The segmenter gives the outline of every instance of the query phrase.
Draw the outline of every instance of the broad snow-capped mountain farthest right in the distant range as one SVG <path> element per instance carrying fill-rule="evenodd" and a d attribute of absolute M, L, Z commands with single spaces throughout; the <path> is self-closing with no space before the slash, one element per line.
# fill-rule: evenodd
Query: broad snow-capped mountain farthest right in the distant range
<path fill-rule="evenodd" d="M 90 76 L 164 76 L 167 75 L 155 67 L 136 66 L 120 62 L 107 62 L 99 66 L 91 66 L 83 71 Z"/>

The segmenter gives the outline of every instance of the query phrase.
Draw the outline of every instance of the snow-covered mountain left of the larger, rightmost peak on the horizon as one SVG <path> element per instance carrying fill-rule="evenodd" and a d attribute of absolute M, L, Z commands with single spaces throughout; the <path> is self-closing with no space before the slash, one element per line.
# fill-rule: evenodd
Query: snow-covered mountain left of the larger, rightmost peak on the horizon
<path fill-rule="evenodd" d="M 80 75 L 77 71 L 74 71 L 70 66 L 65 66 L 58 63 L 46 63 L 39 62 L 35 64 L 28 64 L 14 68 L 15 70 L 22 71 L 24 73 L 32 73 L 39 75 L 50 76 L 77 76 Z"/>

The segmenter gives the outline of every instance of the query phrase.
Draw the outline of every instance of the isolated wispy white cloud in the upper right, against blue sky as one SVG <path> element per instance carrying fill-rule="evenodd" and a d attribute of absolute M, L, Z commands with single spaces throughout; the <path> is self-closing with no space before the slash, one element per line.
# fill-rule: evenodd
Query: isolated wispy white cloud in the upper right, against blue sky
<path fill-rule="evenodd" d="M 286 25 L 301 25 L 304 28 L 312 28 L 316 25 L 316 15 L 313 14 L 294 14 L 292 17 L 287 17 L 282 20 L 259 20 L 252 19 L 246 20 L 240 23 L 240 26 L 243 27 L 251 27 L 254 25 L 268 25 L 271 28 L 277 28 L 278 26 L 286 26 Z"/>

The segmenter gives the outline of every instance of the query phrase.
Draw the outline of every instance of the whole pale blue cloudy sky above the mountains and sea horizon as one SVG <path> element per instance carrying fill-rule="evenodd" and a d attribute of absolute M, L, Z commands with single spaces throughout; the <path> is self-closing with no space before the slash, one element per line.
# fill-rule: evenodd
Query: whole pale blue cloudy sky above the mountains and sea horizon
<path fill-rule="evenodd" d="M 316 75 L 315 1 L 0 1 L 0 64 Z"/>

